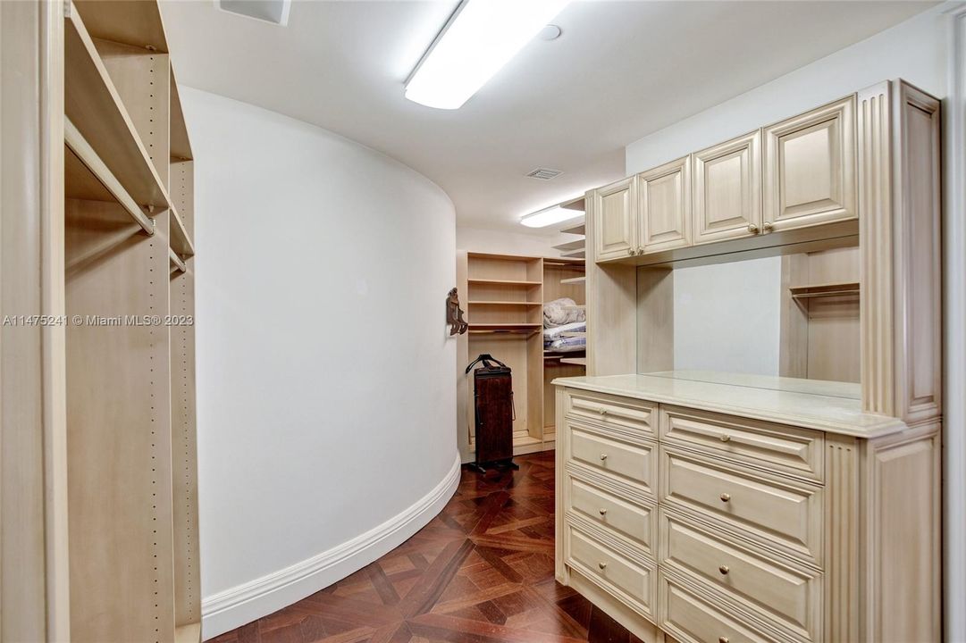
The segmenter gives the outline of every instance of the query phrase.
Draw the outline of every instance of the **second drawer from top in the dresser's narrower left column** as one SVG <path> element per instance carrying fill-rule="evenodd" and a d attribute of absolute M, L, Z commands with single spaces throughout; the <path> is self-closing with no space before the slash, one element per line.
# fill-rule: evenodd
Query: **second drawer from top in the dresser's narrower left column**
<path fill-rule="evenodd" d="M 653 494 L 657 453 L 653 442 L 632 444 L 605 435 L 600 430 L 567 423 L 568 453 L 573 461 L 620 476 Z"/>

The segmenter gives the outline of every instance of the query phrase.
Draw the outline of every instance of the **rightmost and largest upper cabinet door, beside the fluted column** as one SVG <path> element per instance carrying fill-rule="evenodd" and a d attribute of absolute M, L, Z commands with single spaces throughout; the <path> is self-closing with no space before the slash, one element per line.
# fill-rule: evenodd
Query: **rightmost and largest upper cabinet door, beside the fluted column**
<path fill-rule="evenodd" d="M 763 131 L 765 232 L 858 217 L 854 96 Z"/>

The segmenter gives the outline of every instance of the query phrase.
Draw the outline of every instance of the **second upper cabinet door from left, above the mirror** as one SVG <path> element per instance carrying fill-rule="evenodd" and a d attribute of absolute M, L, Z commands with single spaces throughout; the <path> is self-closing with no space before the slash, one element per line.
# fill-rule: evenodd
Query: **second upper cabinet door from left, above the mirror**
<path fill-rule="evenodd" d="M 690 159 L 638 175 L 638 254 L 691 245 Z"/>

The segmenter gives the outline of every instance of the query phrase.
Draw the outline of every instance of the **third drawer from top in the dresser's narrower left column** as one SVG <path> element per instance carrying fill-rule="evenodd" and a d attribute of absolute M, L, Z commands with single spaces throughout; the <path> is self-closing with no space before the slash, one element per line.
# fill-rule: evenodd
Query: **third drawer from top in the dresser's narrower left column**
<path fill-rule="evenodd" d="M 597 525 L 634 541 L 643 553 L 653 555 L 657 516 L 652 507 L 623 500 L 610 491 L 573 475 L 567 476 L 567 509 Z"/>

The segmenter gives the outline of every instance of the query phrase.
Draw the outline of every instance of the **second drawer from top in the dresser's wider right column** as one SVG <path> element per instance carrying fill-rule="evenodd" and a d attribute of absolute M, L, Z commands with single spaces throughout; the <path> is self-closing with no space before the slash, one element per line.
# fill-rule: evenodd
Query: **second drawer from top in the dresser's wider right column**
<path fill-rule="evenodd" d="M 661 446 L 662 502 L 821 567 L 822 489 Z"/>

